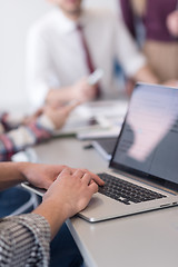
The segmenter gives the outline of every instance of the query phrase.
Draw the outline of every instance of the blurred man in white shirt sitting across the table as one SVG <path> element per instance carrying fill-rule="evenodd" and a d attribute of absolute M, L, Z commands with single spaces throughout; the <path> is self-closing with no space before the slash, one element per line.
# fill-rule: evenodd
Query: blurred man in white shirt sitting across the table
<path fill-rule="evenodd" d="M 33 105 L 96 98 L 89 86 L 90 68 L 83 46 L 87 42 L 92 68 L 101 68 L 100 97 L 115 95 L 113 60 L 136 81 L 158 82 L 138 51 L 121 20 L 110 11 L 89 10 L 82 0 L 49 0 L 57 9 L 36 22 L 28 36 L 27 85 Z M 78 30 L 82 28 L 82 33 Z M 83 34 L 81 37 L 81 34 Z M 60 90 L 57 90 L 60 89 Z"/>

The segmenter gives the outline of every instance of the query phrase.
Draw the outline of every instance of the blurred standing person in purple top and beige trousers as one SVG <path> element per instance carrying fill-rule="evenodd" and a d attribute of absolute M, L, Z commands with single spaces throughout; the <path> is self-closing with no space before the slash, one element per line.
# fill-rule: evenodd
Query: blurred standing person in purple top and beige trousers
<path fill-rule="evenodd" d="M 120 0 L 120 7 L 154 73 L 178 87 L 178 0 Z"/>

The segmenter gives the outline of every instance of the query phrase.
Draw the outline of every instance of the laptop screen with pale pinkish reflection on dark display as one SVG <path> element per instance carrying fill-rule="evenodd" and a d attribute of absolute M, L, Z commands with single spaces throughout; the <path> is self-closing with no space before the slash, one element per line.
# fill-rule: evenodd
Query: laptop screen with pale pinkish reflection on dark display
<path fill-rule="evenodd" d="M 110 167 L 178 184 L 178 89 L 136 86 Z"/>

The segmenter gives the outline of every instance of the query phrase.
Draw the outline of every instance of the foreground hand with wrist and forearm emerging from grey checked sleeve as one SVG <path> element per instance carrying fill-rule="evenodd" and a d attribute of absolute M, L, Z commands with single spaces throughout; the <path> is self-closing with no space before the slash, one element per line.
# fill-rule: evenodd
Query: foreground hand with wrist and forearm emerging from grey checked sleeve
<path fill-rule="evenodd" d="M 43 169 L 44 172 L 47 170 Z M 50 175 L 51 170 L 49 171 L 48 175 L 55 181 L 44 194 L 42 204 L 33 211 L 48 220 L 51 239 L 66 219 L 86 208 L 92 195 L 98 191 L 98 185 L 105 184 L 97 175 L 88 170 L 65 167 L 56 178 L 57 171 L 59 170 L 56 169 L 52 175 Z"/>

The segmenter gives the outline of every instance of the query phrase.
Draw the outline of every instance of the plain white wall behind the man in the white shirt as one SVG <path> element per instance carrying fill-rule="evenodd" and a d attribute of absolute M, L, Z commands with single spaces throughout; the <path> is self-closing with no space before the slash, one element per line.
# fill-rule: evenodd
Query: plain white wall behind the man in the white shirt
<path fill-rule="evenodd" d="M 85 0 L 83 3 L 118 12 L 117 0 Z M 0 107 L 1 110 L 27 110 L 27 32 L 41 14 L 53 7 L 47 0 L 0 0 Z"/>

